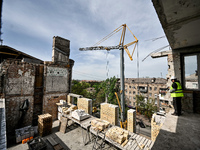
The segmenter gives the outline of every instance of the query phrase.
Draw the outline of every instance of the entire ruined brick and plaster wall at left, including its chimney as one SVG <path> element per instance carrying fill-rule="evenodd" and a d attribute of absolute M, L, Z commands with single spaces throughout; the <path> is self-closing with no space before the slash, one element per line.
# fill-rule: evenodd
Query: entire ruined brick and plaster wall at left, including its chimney
<path fill-rule="evenodd" d="M 21 117 L 19 108 L 25 99 L 29 101 L 29 109 L 23 126 L 32 125 L 34 121 L 37 123 L 37 116 L 42 113 L 50 113 L 53 120 L 57 118 L 56 103 L 61 99 L 66 100 L 71 87 L 74 61 L 69 59 L 69 46 L 69 40 L 54 37 L 53 61 L 44 64 L 42 61 L 37 64 L 35 58 L 29 58 L 28 55 L 23 55 L 18 60 L 1 60 L 0 95 L 6 99 L 6 124 L 9 131 L 17 128 Z M 23 62 L 24 60 L 30 63 Z"/>

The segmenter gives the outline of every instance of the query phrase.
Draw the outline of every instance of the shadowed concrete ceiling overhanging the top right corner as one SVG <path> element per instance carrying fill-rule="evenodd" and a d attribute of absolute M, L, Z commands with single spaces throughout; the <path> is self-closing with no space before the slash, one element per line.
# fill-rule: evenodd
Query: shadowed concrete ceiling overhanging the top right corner
<path fill-rule="evenodd" d="M 152 0 L 171 48 L 200 45 L 200 0 Z"/>

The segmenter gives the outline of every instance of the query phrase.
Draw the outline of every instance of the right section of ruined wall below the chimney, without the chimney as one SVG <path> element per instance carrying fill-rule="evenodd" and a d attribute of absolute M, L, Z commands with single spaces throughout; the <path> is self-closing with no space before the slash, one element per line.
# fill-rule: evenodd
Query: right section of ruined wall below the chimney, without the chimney
<path fill-rule="evenodd" d="M 44 96 L 43 113 L 50 113 L 52 119 L 57 118 L 56 103 L 66 100 L 69 91 L 68 69 L 45 62 L 44 66 Z"/>

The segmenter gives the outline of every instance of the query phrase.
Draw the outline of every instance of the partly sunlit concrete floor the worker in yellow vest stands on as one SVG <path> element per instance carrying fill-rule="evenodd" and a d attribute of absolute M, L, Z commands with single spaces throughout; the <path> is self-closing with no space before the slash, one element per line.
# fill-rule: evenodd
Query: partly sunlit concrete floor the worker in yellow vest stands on
<path fill-rule="evenodd" d="M 200 114 L 166 115 L 153 150 L 200 149 Z"/>

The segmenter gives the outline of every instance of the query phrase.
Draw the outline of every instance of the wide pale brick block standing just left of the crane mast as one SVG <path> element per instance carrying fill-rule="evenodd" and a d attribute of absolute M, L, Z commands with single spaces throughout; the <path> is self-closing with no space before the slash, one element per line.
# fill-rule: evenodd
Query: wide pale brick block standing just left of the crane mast
<path fill-rule="evenodd" d="M 108 103 L 101 103 L 101 120 L 106 120 L 113 125 L 118 125 L 119 107 Z"/>

